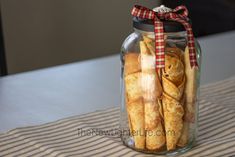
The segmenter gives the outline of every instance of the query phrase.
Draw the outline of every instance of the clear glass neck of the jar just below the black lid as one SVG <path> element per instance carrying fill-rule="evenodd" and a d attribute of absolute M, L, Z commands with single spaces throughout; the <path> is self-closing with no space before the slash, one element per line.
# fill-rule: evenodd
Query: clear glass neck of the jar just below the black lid
<path fill-rule="evenodd" d="M 149 38 L 155 38 L 155 35 L 154 35 L 154 32 L 147 32 L 147 31 L 142 31 L 142 30 L 139 30 L 139 29 L 136 29 L 134 28 L 134 31 L 136 33 L 139 33 L 139 34 L 142 34 L 142 35 L 145 35 L 145 36 L 148 36 Z M 168 38 L 170 37 L 176 37 L 176 38 L 185 38 L 186 35 L 187 35 L 187 32 L 186 31 L 181 31 L 181 32 L 164 32 L 164 35 L 167 36 Z"/>

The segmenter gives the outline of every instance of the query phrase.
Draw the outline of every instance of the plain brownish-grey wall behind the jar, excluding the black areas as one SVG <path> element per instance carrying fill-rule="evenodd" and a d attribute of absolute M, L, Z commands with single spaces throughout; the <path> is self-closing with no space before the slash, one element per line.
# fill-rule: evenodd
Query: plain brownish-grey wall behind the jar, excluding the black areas
<path fill-rule="evenodd" d="M 1 0 L 10 74 L 119 53 L 133 5 L 157 0 Z"/>

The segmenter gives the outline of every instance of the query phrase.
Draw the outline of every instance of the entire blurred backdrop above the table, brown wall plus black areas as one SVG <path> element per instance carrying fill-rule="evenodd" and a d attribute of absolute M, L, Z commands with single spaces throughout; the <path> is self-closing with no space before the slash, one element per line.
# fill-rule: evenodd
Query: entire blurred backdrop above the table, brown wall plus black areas
<path fill-rule="evenodd" d="M 196 37 L 235 29 L 234 0 L 1 0 L 2 74 L 112 54 L 132 32 L 134 4 L 190 11 Z"/>

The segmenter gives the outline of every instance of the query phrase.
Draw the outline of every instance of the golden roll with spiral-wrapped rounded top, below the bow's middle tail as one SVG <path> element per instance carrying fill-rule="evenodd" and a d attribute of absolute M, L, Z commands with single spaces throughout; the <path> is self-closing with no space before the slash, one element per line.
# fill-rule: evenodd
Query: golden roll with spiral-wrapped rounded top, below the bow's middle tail
<path fill-rule="evenodd" d="M 181 99 L 184 93 L 184 65 L 174 55 L 165 55 L 165 70 L 162 75 L 163 115 L 167 150 L 174 150 L 181 137 L 184 109 Z"/>

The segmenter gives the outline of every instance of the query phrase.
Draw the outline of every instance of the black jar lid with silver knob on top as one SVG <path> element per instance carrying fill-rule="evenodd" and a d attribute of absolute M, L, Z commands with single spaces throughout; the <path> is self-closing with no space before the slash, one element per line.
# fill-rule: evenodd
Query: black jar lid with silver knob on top
<path fill-rule="evenodd" d="M 161 5 L 160 7 L 153 9 L 155 12 L 170 12 L 171 9 Z M 175 21 L 163 22 L 164 32 L 182 32 L 185 31 L 184 26 L 181 23 Z M 189 21 L 190 22 L 190 21 Z M 141 19 L 138 17 L 133 18 L 133 27 L 142 31 L 153 32 L 154 31 L 154 21 L 148 19 Z"/>

